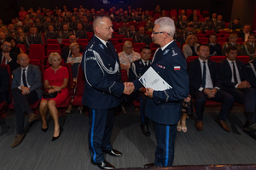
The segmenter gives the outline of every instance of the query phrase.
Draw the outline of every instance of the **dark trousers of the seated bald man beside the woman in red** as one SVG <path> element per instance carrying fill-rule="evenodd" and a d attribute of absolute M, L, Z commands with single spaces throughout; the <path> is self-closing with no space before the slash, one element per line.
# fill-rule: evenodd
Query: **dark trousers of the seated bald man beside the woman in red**
<path fill-rule="evenodd" d="M 12 90 L 12 95 L 15 99 L 15 119 L 16 119 L 16 133 L 24 133 L 24 112 L 31 114 L 32 110 L 30 104 L 38 101 L 38 94 L 32 91 L 30 94 L 23 95 L 19 88 Z"/>

